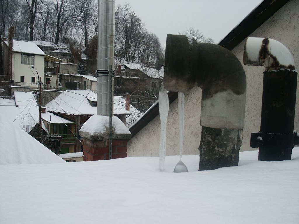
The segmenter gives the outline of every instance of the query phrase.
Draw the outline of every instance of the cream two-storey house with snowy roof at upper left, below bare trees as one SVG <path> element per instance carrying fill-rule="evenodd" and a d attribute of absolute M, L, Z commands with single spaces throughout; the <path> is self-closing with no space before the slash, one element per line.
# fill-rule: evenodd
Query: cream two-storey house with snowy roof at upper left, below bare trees
<path fill-rule="evenodd" d="M 4 40 L 3 60 L 4 75 L 15 85 L 38 88 L 40 77 L 44 83 L 42 88 L 57 87 L 57 73 L 59 76 L 62 60 L 45 54 L 34 42 L 13 40 L 10 56 L 9 42 Z"/>

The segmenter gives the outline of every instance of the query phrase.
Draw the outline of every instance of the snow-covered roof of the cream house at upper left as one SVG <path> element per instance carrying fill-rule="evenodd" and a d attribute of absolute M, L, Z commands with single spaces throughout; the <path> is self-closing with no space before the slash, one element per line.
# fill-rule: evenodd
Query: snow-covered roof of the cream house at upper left
<path fill-rule="evenodd" d="M 8 41 L 4 41 L 8 46 Z M 45 53 L 33 42 L 13 40 L 13 52 L 45 55 Z"/>

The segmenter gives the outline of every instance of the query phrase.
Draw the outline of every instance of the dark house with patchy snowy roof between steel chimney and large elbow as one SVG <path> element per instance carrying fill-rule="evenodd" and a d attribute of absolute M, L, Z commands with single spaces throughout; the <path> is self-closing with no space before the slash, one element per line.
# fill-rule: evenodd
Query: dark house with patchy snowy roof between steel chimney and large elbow
<path fill-rule="evenodd" d="M 114 92 L 124 96 L 129 93 L 132 105 L 139 111 L 145 112 L 158 99 L 164 70 L 136 63 L 122 63 L 118 65 L 114 77 Z"/>

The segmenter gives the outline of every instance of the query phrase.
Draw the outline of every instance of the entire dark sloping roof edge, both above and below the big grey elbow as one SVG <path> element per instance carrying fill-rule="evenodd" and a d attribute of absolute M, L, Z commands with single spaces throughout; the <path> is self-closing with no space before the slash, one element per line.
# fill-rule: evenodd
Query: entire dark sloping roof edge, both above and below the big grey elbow
<path fill-rule="evenodd" d="M 245 17 L 230 33 L 228 33 L 219 43 L 219 46 L 228 50 L 233 50 L 246 37 L 266 22 L 289 0 L 264 0 L 248 16 Z M 178 93 L 169 92 L 169 104 L 178 98 Z M 142 128 L 152 121 L 159 114 L 158 103 L 145 112 L 144 116 L 129 128 L 132 137 L 135 136 Z"/>

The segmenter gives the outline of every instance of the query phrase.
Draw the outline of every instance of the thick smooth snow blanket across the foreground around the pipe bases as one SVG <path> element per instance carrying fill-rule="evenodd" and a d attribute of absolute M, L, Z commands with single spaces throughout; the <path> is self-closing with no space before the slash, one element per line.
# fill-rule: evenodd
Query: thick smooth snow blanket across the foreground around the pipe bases
<path fill-rule="evenodd" d="M 239 166 L 173 173 L 179 156 L 4 165 L 0 223 L 299 223 L 299 148 L 292 160 L 240 153 Z"/>

